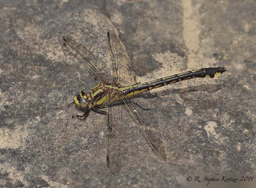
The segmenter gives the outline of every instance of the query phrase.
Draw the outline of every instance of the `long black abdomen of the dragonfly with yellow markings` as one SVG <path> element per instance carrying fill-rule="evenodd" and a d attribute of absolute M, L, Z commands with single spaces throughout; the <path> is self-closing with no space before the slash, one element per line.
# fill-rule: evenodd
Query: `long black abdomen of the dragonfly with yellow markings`
<path fill-rule="evenodd" d="M 185 81 L 191 78 L 215 78 L 216 76 L 224 73 L 225 71 L 225 68 L 201 68 L 199 70 L 191 70 L 185 73 L 170 75 L 165 78 L 159 78 L 155 81 L 140 83 L 134 86 L 130 86 L 129 88 L 126 87 L 123 90 L 123 93 L 126 94 L 128 97 L 132 97 L 144 91 L 156 89 L 161 86 L 176 83 L 178 81 Z"/>

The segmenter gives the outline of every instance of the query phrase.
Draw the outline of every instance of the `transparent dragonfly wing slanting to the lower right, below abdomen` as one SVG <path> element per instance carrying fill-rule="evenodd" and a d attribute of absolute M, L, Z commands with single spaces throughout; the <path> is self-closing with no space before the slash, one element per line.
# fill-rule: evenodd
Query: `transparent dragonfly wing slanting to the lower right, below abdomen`
<path fill-rule="evenodd" d="M 140 127 L 146 142 L 148 142 L 153 152 L 155 152 L 162 160 L 166 160 L 167 155 L 161 140 L 158 122 L 156 118 L 154 118 L 155 111 L 143 110 L 143 106 L 140 106 L 141 104 L 136 104 L 135 101 L 124 101 L 124 105 L 128 108 L 129 113 L 131 113 L 135 122 Z"/>

